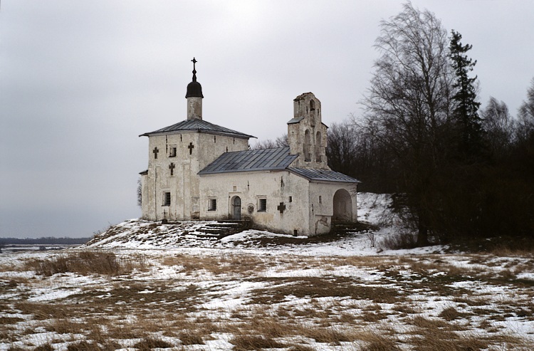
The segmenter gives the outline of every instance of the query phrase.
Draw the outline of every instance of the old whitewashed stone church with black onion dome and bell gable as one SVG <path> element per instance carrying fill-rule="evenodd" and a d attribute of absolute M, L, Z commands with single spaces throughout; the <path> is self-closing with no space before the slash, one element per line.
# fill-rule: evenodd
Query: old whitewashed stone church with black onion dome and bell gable
<path fill-rule="evenodd" d="M 140 173 L 143 219 L 248 219 L 255 229 L 306 236 L 357 221 L 358 181 L 328 167 L 327 126 L 313 93 L 293 100 L 288 147 L 250 150 L 252 135 L 203 119 L 195 63 L 187 119 L 140 135 L 149 149 Z"/>

